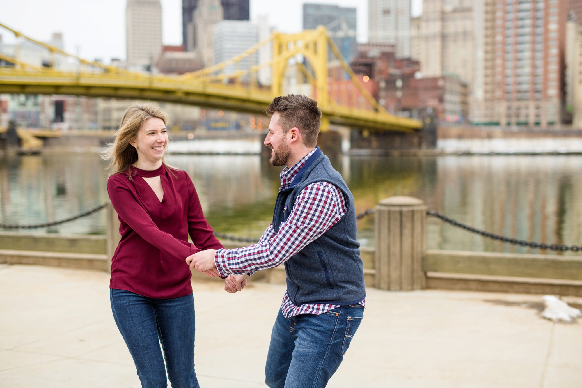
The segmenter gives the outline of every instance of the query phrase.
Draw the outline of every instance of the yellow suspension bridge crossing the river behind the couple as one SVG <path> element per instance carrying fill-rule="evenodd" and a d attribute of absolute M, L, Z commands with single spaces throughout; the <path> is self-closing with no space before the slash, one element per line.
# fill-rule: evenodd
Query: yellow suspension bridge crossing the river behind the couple
<path fill-rule="evenodd" d="M 296 65 L 313 87 L 313 97 L 323 113 L 322 131 L 328 130 L 330 124 L 405 132 L 422 128 L 420 121 L 391 115 L 378 104 L 357 79 L 323 26 L 297 34 L 275 32 L 267 40 L 236 57 L 180 76 L 130 72 L 99 62 L 89 62 L 24 36 L 4 24 L 0 23 L 0 27 L 12 31 L 17 40 L 26 39 L 48 50 L 52 58 L 48 67 L 38 67 L 23 62 L 19 58 L 18 49 L 14 57 L 0 53 L 0 63 L 3 63 L 0 65 L 0 93 L 132 98 L 263 113 L 272 98 L 282 94 L 283 77 L 290 59 L 301 58 Z M 249 63 L 253 55 L 256 57 L 257 51 L 265 45 L 271 45 L 270 61 L 237 69 L 242 61 Z M 328 52 L 335 56 L 352 79 L 354 87 L 368 101 L 370 110 L 339 105 L 329 96 Z M 77 69 L 56 69 L 55 56 L 76 61 Z M 260 85 L 257 80 L 258 72 L 267 66 L 271 68 L 270 87 Z"/>

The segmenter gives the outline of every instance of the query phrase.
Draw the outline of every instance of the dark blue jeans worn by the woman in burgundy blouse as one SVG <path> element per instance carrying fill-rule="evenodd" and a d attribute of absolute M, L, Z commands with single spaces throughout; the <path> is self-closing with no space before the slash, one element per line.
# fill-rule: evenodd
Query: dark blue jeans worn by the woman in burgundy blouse
<path fill-rule="evenodd" d="M 154 299 L 111 289 L 110 295 L 113 318 L 132 354 L 141 386 L 167 386 L 165 358 L 173 388 L 198 388 L 194 372 L 192 294 Z"/>

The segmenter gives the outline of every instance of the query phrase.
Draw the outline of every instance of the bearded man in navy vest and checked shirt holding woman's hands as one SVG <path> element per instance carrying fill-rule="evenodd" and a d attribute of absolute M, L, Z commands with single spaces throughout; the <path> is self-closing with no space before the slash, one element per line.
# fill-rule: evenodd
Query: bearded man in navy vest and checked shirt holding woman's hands
<path fill-rule="evenodd" d="M 229 276 L 225 288 L 235 292 L 247 273 L 285 263 L 287 291 L 271 333 L 265 382 L 271 388 L 325 387 L 364 314 L 354 199 L 316 147 L 321 125 L 316 101 L 276 97 L 267 114 L 270 162 L 287 166 L 272 224 L 258 244 L 202 251 L 186 261 L 198 271 Z"/>

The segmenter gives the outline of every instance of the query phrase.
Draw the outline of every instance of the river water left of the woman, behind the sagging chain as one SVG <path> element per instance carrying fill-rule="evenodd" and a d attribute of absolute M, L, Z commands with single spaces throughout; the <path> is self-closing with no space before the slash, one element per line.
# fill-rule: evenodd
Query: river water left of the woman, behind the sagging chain
<path fill-rule="evenodd" d="M 61 220 L 105 202 L 106 165 L 98 154 L 1 158 L 1 223 L 26 225 Z M 104 225 L 105 214 L 101 211 L 72 223 L 32 232 L 104 234 Z"/>

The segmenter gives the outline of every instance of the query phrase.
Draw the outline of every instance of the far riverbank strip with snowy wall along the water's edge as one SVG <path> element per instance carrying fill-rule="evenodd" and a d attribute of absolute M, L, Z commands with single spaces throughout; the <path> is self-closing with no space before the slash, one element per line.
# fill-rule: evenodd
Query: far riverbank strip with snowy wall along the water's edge
<path fill-rule="evenodd" d="M 1 129 L 0 129 L 0 132 Z M 114 130 L 67 132 L 22 129 L 42 139 L 44 153 L 100 152 L 112 142 Z M 48 135 L 47 135 L 48 134 Z M 171 132 L 173 154 L 244 154 L 267 151 L 265 133 L 240 131 Z M 410 139 L 409 139 L 410 137 Z M 327 154 L 349 156 L 439 156 L 447 154 L 582 154 L 582 129 L 441 126 L 436 146 L 425 147 L 422 133 L 359 132 L 339 128 L 321 133 L 318 145 Z M 411 139 L 416 139 L 412 141 Z M 37 139 L 38 140 L 38 139 Z M 406 140 L 406 141 L 405 141 Z M 410 140 L 410 141 L 409 141 Z"/>

